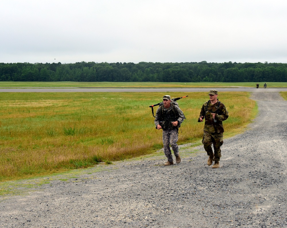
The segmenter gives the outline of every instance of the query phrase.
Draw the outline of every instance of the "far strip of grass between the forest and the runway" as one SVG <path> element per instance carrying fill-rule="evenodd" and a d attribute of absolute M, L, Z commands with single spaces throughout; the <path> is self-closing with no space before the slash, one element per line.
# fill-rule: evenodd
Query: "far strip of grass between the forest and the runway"
<path fill-rule="evenodd" d="M 259 83 L 263 88 L 264 82 Z M 266 82 L 269 87 L 287 87 L 287 82 Z M 256 87 L 255 82 L 0 82 L 1 87 L 134 87 L 134 88 L 219 88 Z"/>

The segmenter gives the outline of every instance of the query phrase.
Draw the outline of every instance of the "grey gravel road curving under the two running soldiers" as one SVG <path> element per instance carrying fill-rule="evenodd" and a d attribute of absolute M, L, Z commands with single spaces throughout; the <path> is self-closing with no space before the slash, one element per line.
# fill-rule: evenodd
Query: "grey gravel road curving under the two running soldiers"
<path fill-rule="evenodd" d="M 206 164 L 202 145 L 186 144 L 173 166 L 158 153 L 29 180 L 49 183 L 0 198 L 0 226 L 287 227 L 287 101 L 275 92 L 252 99 L 259 115 L 224 140 L 220 168 Z"/>

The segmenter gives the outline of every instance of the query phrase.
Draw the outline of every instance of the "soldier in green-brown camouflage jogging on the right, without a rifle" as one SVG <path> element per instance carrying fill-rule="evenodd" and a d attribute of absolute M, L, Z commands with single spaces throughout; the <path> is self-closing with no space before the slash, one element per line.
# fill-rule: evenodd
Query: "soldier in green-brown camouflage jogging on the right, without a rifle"
<path fill-rule="evenodd" d="M 226 120 L 229 115 L 224 104 L 217 99 L 217 90 L 210 90 L 208 95 L 210 100 L 202 105 L 198 122 L 202 122 L 205 118 L 202 143 L 209 156 L 207 164 L 210 166 L 214 161 L 212 168 L 219 168 L 220 146 L 223 144 L 224 132 L 222 121 Z M 212 144 L 214 153 L 211 147 Z"/>

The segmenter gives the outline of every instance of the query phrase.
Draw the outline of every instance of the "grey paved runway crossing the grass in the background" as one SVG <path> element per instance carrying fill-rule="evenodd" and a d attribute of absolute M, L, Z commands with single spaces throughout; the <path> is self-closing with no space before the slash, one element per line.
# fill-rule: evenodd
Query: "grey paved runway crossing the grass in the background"
<path fill-rule="evenodd" d="M 287 88 L 252 88 L 252 87 L 229 87 L 229 88 L 79 88 L 79 87 L 61 87 L 61 88 L 1 88 L 0 92 L 207 92 L 216 89 L 220 92 L 280 92 L 287 91 Z"/>

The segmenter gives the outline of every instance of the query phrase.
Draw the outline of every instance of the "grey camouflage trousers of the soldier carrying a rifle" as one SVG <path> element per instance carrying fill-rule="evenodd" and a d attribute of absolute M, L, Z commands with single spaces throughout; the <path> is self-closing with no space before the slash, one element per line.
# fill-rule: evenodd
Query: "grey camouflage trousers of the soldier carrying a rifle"
<path fill-rule="evenodd" d="M 176 157 L 179 156 L 179 147 L 177 145 L 178 134 L 177 129 L 163 130 L 162 131 L 162 142 L 164 154 L 169 162 L 172 162 L 172 154 L 169 145 L 171 146 L 173 153 Z"/>

